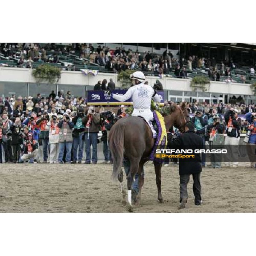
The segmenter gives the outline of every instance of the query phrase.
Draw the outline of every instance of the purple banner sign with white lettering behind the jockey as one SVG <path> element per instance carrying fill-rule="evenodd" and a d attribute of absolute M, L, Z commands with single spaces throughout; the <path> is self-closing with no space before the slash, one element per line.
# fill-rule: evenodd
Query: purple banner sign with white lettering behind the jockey
<path fill-rule="evenodd" d="M 127 92 L 127 89 L 113 90 L 114 94 L 124 95 Z M 164 104 L 164 91 L 157 91 L 159 94 L 161 102 L 160 105 Z M 113 99 L 111 96 L 108 96 L 102 90 L 89 90 L 87 91 L 87 105 L 132 105 L 132 99 L 128 99 L 125 102 L 119 102 L 116 99 Z"/>

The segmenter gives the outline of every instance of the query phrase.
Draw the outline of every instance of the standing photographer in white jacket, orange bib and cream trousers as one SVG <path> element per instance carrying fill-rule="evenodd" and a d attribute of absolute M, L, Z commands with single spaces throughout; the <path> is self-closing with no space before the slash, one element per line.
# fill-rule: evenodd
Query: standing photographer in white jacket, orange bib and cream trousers
<path fill-rule="evenodd" d="M 49 147 L 50 147 L 50 163 L 58 163 L 59 153 L 59 133 L 58 118 L 55 115 L 51 116 L 49 122 L 47 122 L 46 129 L 49 131 Z"/>

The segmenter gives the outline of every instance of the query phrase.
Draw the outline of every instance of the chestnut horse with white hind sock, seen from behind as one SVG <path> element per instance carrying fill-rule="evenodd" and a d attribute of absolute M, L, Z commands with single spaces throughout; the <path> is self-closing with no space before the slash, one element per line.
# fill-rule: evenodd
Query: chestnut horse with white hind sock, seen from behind
<path fill-rule="evenodd" d="M 181 106 L 171 105 L 165 107 L 164 121 L 166 130 L 174 125 L 181 132 L 184 131 L 184 125 L 189 121 L 189 114 L 185 103 Z M 124 157 L 130 162 L 130 172 L 127 175 L 128 189 L 128 207 L 131 207 L 131 185 L 136 173 L 139 175 L 139 192 L 137 195 L 137 204 L 140 202 L 141 189 L 144 183 L 143 165 L 148 161 L 154 147 L 155 139 L 152 138 L 152 131 L 145 121 L 138 116 L 129 116 L 119 119 L 111 128 L 109 134 L 109 146 L 113 158 L 113 178 L 118 178 L 122 183 L 122 163 Z M 161 193 L 161 168 L 162 163 L 154 161 L 156 175 L 158 200 L 163 203 Z M 122 185 L 121 185 L 122 188 Z M 123 197 L 125 195 L 122 189 Z M 124 198 L 123 198 L 124 199 Z"/>

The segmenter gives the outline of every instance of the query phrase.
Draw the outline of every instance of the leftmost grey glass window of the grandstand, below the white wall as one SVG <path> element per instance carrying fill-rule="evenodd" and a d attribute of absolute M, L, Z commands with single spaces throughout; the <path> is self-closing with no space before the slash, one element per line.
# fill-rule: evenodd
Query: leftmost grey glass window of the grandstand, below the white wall
<path fill-rule="evenodd" d="M 27 96 L 27 83 L 0 82 L 0 96 Z"/>

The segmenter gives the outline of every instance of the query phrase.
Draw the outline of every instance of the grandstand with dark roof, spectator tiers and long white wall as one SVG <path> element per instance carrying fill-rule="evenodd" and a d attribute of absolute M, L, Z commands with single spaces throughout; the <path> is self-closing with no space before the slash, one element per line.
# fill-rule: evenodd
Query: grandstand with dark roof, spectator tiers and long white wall
<path fill-rule="evenodd" d="M 103 49 L 105 49 L 104 52 Z M 92 88 L 97 80 L 102 80 L 105 76 L 113 78 L 117 86 L 120 86 L 121 84 L 117 81 L 117 74 L 120 70 L 142 70 L 151 84 L 156 79 L 163 79 L 164 89 L 167 90 L 166 100 L 182 99 L 192 102 L 198 99 L 212 101 L 218 98 L 218 102 L 228 102 L 233 95 L 239 97 L 242 94 L 246 103 L 250 103 L 255 101 L 253 91 L 250 89 L 250 84 L 254 84 L 256 79 L 255 72 L 252 72 L 252 68 L 255 67 L 255 52 L 255 45 L 240 43 L 2 43 L 0 44 L 0 68 L 2 70 L 23 68 L 25 71 L 44 64 L 59 67 L 62 70 L 61 81 L 57 85 L 48 85 L 48 87 L 53 90 L 59 88 L 65 90 L 74 81 L 73 88 L 83 96 L 86 90 Z M 193 55 L 195 55 L 195 65 L 189 68 L 188 60 Z M 151 69 L 148 68 L 149 58 L 152 60 Z M 163 65 L 166 59 L 170 67 L 161 70 L 160 65 Z M 134 66 L 132 66 L 133 60 Z M 198 60 L 203 60 L 203 64 L 198 66 Z M 108 66 L 110 62 L 113 62 L 112 68 Z M 180 65 L 180 70 L 182 68 L 186 70 L 186 75 L 176 72 L 178 65 Z M 85 79 L 80 78 L 80 74 L 73 73 L 81 70 L 96 70 L 99 75 L 95 78 L 87 76 Z M 12 69 L 12 72 L 16 76 L 17 69 Z M 217 73 L 219 77 L 213 75 Z M 31 76 L 31 73 L 29 74 Z M 70 78 L 66 81 L 68 76 Z M 189 84 L 190 79 L 195 76 L 206 76 L 212 81 L 207 92 L 192 91 Z M 4 80 L 1 80 L 1 77 L 4 77 Z M 17 89 L 17 85 L 7 84 L 10 81 L 5 80 L 5 77 L 0 74 L 1 86 L 8 87 L 8 90 L 1 90 L 2 95 L 12 92 L 21 93 L 21 90 L 26 90 L 23 92 L 23 96 L 26 96 L 28 90 L 33 93 L 36 90 L 46 90 L 44 84 L 36 85 L 33 78 L 23 79 L 22 81 L 27 85 Z M 75 77 L 77 79 L 73 79 Z M 18 77 L 11 80 L 21 82 Z M 226 87 L 229 89 L 222 90 L 221 87 L 226 81 L 230 81 L 231 85 L 228 83 Z M 32 84 L 36 89 L 32 88 Z M 241 86 L 241 84 L 248 84 L 248 86 Z M 13 90 L 10 89 L 12 86 Z M 80 88 L 83 89 L 79 91 Z"/>

